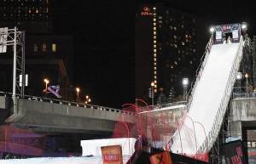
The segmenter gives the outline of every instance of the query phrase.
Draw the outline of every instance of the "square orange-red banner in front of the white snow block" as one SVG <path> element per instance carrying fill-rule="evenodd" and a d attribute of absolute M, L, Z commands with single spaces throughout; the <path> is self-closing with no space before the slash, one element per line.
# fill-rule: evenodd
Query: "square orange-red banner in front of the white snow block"
<path fill-rule="evenodd" d="M 103 164 L 123 164 L 122 147 L 120 145 L 102 146 Z"/>

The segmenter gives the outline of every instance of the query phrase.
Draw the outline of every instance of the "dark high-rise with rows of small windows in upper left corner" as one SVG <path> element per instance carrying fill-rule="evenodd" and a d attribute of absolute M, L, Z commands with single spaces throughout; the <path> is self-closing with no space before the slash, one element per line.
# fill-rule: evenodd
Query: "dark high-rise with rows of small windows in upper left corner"
<path fill-rule="evenodd" d="M 3 26 L 18 26 L 30 33 L 52 31 L 49 0 L 0 0 L 0 21 Z"/>

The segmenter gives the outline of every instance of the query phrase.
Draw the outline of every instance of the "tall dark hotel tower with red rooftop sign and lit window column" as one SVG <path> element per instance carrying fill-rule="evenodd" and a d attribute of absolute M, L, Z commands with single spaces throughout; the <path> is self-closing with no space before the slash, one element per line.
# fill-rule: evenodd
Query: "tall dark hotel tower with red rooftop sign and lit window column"
<path fill-rule="evenodd" d="M 170 90 L 183 94 L 183 77 L 191 82 L 199 65 L 195 16 L 166 4 L 142 5 L 136 17 L 136 97 L 148 99 Z M 173 92 L 172 90 L 172 92 Z"/>

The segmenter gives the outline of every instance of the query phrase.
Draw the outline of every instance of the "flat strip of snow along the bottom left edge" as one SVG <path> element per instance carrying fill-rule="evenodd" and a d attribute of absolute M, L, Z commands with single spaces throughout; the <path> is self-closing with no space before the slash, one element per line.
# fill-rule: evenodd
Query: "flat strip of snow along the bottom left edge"
<path fill-rule="evenodd" d="M 124 156 L 124 164 L 129 156 Z M 102 156 L 56 157 L 0 160 L 0 164 L 102 164 Z"/>

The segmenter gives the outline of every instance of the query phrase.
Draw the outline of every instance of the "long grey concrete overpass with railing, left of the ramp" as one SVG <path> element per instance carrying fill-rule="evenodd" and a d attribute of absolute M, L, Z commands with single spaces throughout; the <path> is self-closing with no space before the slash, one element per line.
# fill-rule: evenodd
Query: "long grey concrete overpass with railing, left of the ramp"
<path fill-rule="evenodd" d="M 0 92 L 0 122 L 42 133 L 111 133 L 115 122 L 135 123 L 133 112 L 60 99 L 16 97 Z"/>

